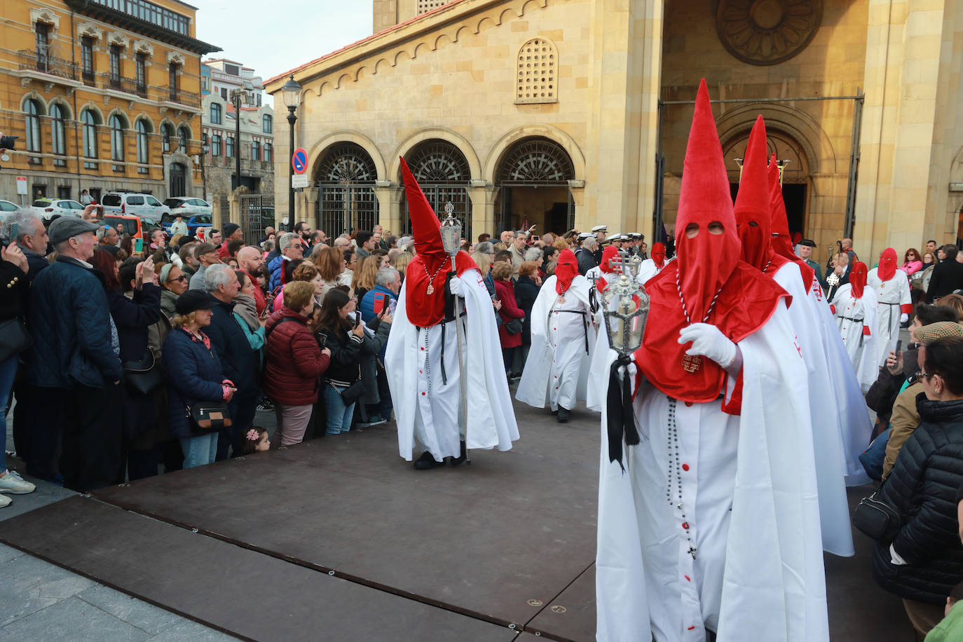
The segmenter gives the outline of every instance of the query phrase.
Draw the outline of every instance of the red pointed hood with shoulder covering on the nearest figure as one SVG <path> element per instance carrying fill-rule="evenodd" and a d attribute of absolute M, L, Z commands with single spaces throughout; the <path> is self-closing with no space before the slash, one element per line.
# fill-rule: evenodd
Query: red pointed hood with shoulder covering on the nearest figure
<path fill-rule="evenodd" d="M 710 232 L 711 223 L 721 223 L 722 233 Z M 686 231 L 690 224 L 698 228 L 693 238 Z M 685 352 L 691 344 L 679 344 L 679 332 L 690 322 L 703 321 L 715 300 L 706 322 L 739 343 L 762 327 L 781 297 L 788 295 L 739 259 L 729 177 L 705 80 L 699 84 L 695 100 L 675 229 L 678 258 L 645 286 L 652 298 L 635 361 L 639 372 L 665 395 L 683 401 L 713 401 L 722 392 L 726 372 L 706 357 L 697 370 L 687 372 L 684 364 L 690 359 Z M 737 390 L 726 411 L 738 414 L 739 406 Z"/>

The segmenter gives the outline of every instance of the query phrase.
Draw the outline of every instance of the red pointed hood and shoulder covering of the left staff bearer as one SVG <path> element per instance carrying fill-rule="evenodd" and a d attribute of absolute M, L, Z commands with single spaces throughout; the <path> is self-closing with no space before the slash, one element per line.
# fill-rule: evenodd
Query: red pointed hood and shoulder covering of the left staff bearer
<path fill-rule="evenodd" d="M 402 176 L 411 214 L 411 233 L 418 251 L 404 272 L 404 313 L 413 325 L 429 327 L 445 318 L 445 287 L 448 273 L 452 271 L 452 259 L 441 243 L 441 221 L 404 159 Z M 465 270 L 478 270 L 475 262 L 463 251 L 455 254 L 455 268 L 459 277 Z"/>

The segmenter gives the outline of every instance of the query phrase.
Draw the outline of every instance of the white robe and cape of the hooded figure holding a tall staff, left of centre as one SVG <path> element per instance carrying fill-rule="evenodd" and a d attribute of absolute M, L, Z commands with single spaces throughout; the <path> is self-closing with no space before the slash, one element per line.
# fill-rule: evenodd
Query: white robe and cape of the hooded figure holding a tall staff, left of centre
<path fill-rule="evenodd" d="M 459 299 L 460 306 L 467 313 L 463 346 L 468 377 L 467 431 L 460 412 L 455 321 L 445 328 L 447 383 L 443 383 L 442 323 L 422 328 L 412 325 L 405 314 L 405 290 L 398 296 L 384 363 L 395 404 L 398 449 L 407 461 L 417 444 L 429 450 L 436 461 L 458 456 L 459 435 L 465 435 L 468 449 L 508 450 L 518 439 L 491 297 L 478 270 L 465 270 L 461 284 L 464 298 Z"/>

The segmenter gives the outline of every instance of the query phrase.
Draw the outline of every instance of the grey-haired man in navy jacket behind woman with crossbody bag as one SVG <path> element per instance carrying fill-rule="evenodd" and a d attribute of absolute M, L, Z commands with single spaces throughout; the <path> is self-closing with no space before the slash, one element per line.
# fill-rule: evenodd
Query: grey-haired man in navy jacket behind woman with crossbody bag
<path fill-rule="evenodd" d="M 261 398 L 257 386 L 260 361 L 234 317 L 234 297 L 241 290 L 234 270 L 223 264 L 211 266 L 204 273 L 204 289 L 219 302 L 211 309 L 211 324 L 204 328 L 204 333 L 218 354 L 224 377 L 237 388 L 227 406 L 231 427 L 221 431 L 218 437 L 217 461 L 221 461 L 227 457 L 228 446 L 234 447 L 234 456 L 241 454 L 244 434 L 254 423 L 257 401 Z"/>

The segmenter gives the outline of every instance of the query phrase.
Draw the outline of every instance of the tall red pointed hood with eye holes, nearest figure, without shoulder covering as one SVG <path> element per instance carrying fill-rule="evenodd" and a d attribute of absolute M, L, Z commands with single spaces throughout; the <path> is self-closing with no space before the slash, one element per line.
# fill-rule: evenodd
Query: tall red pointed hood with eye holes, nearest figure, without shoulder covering
<path fill-rule="evenodd" d="M 709 231 L 713 223 L 721 224 L 721 234 Z M 690 225 L 696 228 L 691 239 Z M 716 292 L 736 268 L 740 253 L 729 176 L 705 79 L 695 97 L 675 230 L 676 264 L 686 309 L 693 322 L 702 321 Z"/>

